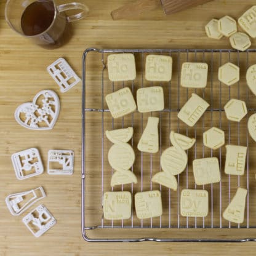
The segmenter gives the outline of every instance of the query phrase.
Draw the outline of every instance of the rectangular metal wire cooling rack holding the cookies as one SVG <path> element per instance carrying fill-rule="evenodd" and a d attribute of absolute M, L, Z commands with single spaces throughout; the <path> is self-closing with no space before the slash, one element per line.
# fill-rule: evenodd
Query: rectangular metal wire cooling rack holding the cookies
<path fill-rule="evenodd" d="M 108 54 L 130 52 L 135 55 L 137 78 L 130 82 L 111 82 L 108 79 L 106 58 Z M 170 82 L 148 82 L 144 78 L 146 54 L 164 54 L 173 58 L 173 75 Z M 205 89 L 185 89 L 180 87 L 180 68 L 183 62 L 207 62 L 208 80 Z M 218 67 L 225 62 L 233 62 L 240 67 L 241 79 L 234 86 L 227 87 L 217 79 Z M 82 236 L 86 241 L 214 241 L 242 242 L 256 241 L 256 204 L 252 196 L 255 178 L 254 142 L 247 132 L 248 116 L 255 113 L 254 95 L 246 86 L 247 68 L 256 63 L 256 50 L 239 52 L 236 50 L 214 49 L 94 49 L 85 50 L 82 58 Z M 143 86 L 161 85 L 164 88 L 165 106 L 157 113 L 132 113 L 120 120 L 111 118 L 105 104 L 105 95 L 128 86 L 134 96 Z M 177 119 L 177 113 L 190 98 L 197 93 L 210 104 L 206 113 L 194 127 L 187 127 Z M 90 100 L 89 100 L 90 98 Z M 226 120 L 223 106 L 230 98 L 244 100 L 248 114 L 240 123 Z M 93 100 L 92 100 L 93 99 Z M 88 106 L 88 102 L 92 106 Z M 92 103 L 94 102 L 94 103 Z M 146 154 L 135 151 L 137 161 L 132 171 L 137 175 L 138 184 L 129 184 L 111 188 L 110 178 L 113 169 L 107 162 L 107 153 L 111 143 L 105 138 L 105 130 L 132 126 L 137 137 L 131 145 L 136 150 L 138 138 L 143 132 L 147 116 L 159 116 L 159 153 Z M 224 174 L 225 148 L 212 151 L 204 147 L 202 132 L 212 126 L 225 130 L 226 144 L 247 146 L 247 164 L 245 174 L 234 177 Z M 151 177 L 161 170 L 159 159 L 162 150 L 170 145 L 169 132 L 173 129 L 197 139 L 194 148 L 187 151 L 188 167 L 177 176 L 178 191 L 171 191 L 151 182 Z M 90 144 L 90 137 L 95 138 Z M 88 156 L 95 162 L 89 162 Z M 220 162 L 220 183 L 196 186 L 191 170 L 191 161 L 195 158 L 217 156 Z M 249 162 L 252 162 L 249 166 Z M 95 169 L 94 166 L 98 165 Z M 250 171 L 249 171 L 250 170 Z M 222 218 L 228 202 L 238 186 L 247 188 L 245 220 L 242 225 L 234 225 Z M 209 214 L 204 218 L 182 217 L 179 213 L 179 196 L 182 188 L 199 188 L 209 191 Z M 134 194 L 137 191 L 158 189 L 162 193 L 163 215 L 149 220 L 138 220 L 132 211 L 130 220 L 108 221 L 103 219 L 102 199 L 105 191 L 126 190 Z M 134 208 L 134 206 L 132 206 Z M 95 214 L 96 213 L 96 214 Z M 192 233 L 191 233 L 192 231 Z M 204 231 L 204 232 L 202 232 Z"/>

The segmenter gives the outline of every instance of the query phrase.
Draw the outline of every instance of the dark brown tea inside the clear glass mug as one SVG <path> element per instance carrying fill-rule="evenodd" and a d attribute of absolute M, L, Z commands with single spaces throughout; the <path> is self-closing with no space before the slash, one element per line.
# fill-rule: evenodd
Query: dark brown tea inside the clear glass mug
<path fill-rule="evenodd" d="M 44 48 L 62 46 L 71 37 L 70 25 L 67 26 L 65 14 L 57 12 L 56 17 L 54 15 L 55 7 L 52 1 L 32 2 L 22 14 L 23 33 L 25 36 L 33 36 L 31 39 Z"/>

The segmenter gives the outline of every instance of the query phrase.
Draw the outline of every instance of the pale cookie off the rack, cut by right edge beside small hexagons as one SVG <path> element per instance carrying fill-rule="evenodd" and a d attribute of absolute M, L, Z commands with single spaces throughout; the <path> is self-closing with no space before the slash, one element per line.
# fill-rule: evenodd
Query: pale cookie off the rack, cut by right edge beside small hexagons
<path fill-rule="evenodd" d="M 249 36 L 256 38 L 256 6 L 252 6 L 238 19 L 238 24 Z"/>

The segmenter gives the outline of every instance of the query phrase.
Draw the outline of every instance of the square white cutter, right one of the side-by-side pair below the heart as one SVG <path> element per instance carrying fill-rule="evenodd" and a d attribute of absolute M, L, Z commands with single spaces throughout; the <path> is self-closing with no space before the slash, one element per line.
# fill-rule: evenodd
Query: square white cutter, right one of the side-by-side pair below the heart
<path fill-rule="evenodd" d="M 72 150 L 48 151 L 48 174 L 71 175 L 74 171 L 74 152 Z"/>

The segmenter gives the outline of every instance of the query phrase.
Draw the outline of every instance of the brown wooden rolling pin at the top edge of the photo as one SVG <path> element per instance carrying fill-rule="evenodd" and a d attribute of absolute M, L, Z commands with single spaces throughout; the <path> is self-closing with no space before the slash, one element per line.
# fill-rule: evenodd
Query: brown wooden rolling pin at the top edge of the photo
<path fill-rule="evenodd" d="M 138 0 L 129 2 L 128 4 L 113 10 L 111 17 L 113 20 L 120 20 L 121 18 L 129 18 L 134 15 L 140 15 L 147 10 L 157 9 L 162 6 L 165 14 L 173 14 L 180 10 L 188 9 L 189 7 L 198 6 L 211 0 Z"/>

